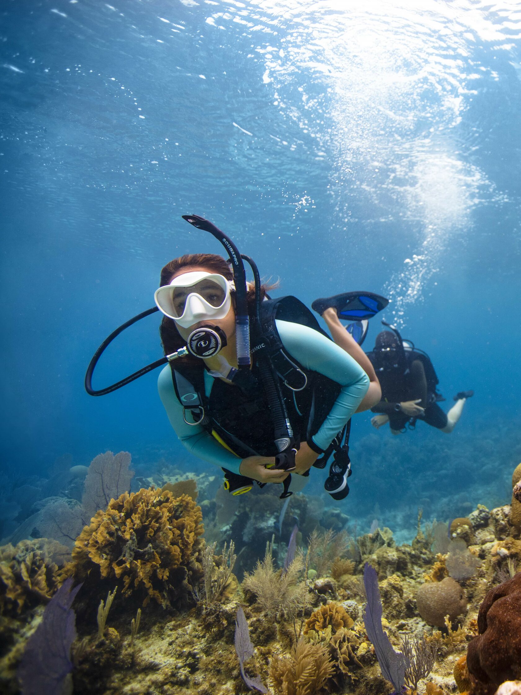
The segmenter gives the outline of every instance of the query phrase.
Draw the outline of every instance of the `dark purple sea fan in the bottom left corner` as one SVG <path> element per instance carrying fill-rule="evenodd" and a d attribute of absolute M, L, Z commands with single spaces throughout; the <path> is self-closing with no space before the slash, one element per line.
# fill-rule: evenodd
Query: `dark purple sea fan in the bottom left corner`
<path fill-rule="evenodd" d="M 81 584 L 71 590 L 67 579 L 44 610 L 42 622 L 29 637 L 18 678 L 22 695 L 65 695 L 72 671 L 71 645 L 76 639 L 76 614 L 71 605 Z"/>

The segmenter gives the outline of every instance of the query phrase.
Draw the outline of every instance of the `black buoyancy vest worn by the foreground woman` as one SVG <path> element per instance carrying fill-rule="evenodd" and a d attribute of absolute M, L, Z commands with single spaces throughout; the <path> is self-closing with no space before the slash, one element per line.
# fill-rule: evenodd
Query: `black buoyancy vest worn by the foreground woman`
<path fill-rule="evenodd" d="M 306 325 L 327 336 L 311 311 L 297 297 L 278 297 L 261 304 L 262 338 L 251 341 L 250 378 L 257 388 L 243 391 L 235 384 L 214 379 L 209 398 L 204 388 L 204 363 L 187 366 L 170 363 L 176 396 L 183 405 L 185 420 L 199 424 L 219 438 L 238 456 L 274 456 L 270 407 L 258 375 L 256 355 L 270 357 L 281 380 L 283 397 L 292 430 L 299 441 L 311 439 L 331 411 L 340 384 L 328 377 L 304 369 L 283 349 L 275 319 Z M 252 336 L 253 338 L 253 336 Z"/>

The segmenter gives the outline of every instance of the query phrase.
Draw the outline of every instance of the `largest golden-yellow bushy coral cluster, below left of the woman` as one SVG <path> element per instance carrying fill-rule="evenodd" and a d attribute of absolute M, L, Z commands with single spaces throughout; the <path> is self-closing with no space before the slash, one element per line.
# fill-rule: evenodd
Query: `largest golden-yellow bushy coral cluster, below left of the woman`
<path fill-rule="evenodd" d="M 142 489 L 100 509 L 76 539 L 65 575 L 122 580 L 122 593 L 145 594 L 168 606 L 202 576 L 201 507 L 188 495 Z M 98 570 L 97 572 L 94 570 Z"/>

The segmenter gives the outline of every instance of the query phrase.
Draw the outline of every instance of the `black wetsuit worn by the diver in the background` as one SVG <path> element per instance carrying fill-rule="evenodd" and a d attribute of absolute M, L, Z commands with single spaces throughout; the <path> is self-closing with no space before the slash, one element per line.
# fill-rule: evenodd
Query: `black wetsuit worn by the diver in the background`
<path fill-rule="evenodd" d="M 367 357 L 374 364 L 374 354 L 370 352 Z M 443 430 L 447 426 L 447 414 L 436 402 L 436 394 L 429 391 L 424 366 L 419 359 L 411 362 L 411 367 L 406 374 L 400 373 L 400 370 L 388 370 L 377 372 L 377 377 L 381 386 L 382 400 L 371 410 L 373 413 L 386 414 L 391 430 L 404 430 L 408 421 L 415 419 L 424 420 L 427 425 L 437 427 L 438 430 Z M 421 402 L 417 405 L 424 408 L 424 413 L 416 418 L 411 418 L 396 409 L 399 403 L 418 399 L 421 399 Z"/>

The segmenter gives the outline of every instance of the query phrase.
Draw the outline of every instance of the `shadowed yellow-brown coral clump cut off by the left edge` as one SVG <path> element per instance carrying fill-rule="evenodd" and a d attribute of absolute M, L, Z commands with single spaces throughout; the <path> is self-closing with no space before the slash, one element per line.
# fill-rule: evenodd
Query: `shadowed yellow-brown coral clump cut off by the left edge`
<path fill-rule="evenodd" d="M 47 538 L 20 541 L 0 548 L 0 613 L 21 613 L 47 601 L 58 588 L 58 566 L 53 555 L 63 557 L 65 546 Z M 59 562 L 59 560 L 58 560 Z"/>

